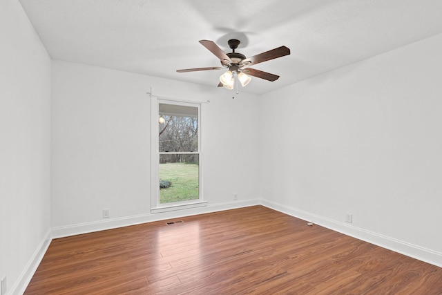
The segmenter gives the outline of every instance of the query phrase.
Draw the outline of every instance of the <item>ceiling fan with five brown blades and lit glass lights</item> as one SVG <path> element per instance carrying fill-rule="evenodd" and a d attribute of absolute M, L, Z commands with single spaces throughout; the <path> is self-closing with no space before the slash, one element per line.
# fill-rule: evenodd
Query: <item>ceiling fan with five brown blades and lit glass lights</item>
<path fill-rule="evenodd" d="M 216 57 L 221 61 L 222 67 L 209 67 L 209 68 L 186 68 L 183 70 L 177 70 L 178 73 L 195 72 L 198 70 L 221 70 L 223 68 L 229 68 L 226 73 L 222 74 L 220 77 L 220 83 L 218 87 L 224 86 L 229 90 L 233 89 L 235 84 L 235 77 L 238 77 L 239 82 L 244 87 L 249 84 L 251 77 L 258 77 L 268 81 L 275 81 L 279 78 L 278 75 L 273 75 L 271 73 L 263 72 L 262 70 L 256 70 L 254 68 L 245 68 L 247 66 L 259 64 L 263 61 L 268 61 L 270 59 L 276 59 L 278 57 L 283 57 L 290 54 L 290 49 L 286 46 L 280 46 L 272 50 L 266 51 L 265 53 L 260 53 L 253 57 L 245 57 L 241 53 L 236 53 L 235 50 L 240 45 L 240 41 L 237 39 L 230 39 L 227 41 L 229 47 L 231 48 L 231 53 L 224 53 L 215 42 L 210 40 L 200 40 L 200 44 L 205 48 L 209 49 Z M 238 85 L 238 83 L 237 83 Z"/>

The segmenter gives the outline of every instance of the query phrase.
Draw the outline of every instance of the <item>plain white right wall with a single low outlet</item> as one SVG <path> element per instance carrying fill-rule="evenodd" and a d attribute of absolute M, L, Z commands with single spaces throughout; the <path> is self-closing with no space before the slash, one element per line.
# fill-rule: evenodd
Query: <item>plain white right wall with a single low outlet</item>
<path fill-rule="evenodd" d="M 441 266 L 441 52 L 436 35 L 263 95 L 262 197 Z"/>

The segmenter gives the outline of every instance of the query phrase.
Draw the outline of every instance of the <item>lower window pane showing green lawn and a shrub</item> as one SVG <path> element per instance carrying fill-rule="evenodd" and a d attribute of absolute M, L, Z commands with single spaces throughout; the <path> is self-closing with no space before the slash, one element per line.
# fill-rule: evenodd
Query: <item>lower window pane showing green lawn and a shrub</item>
<path fill-rule="evenodd" d="M 199 155 L 160 155 L 160 204 L 198 200 Z"/>

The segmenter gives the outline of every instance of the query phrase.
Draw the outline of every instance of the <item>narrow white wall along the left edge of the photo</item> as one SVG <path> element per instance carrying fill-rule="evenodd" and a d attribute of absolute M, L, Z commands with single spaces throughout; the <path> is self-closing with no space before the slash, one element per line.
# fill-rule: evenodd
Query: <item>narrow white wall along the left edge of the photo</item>
<path fill-rule="evenodd" d="M 0 278 L 11 294 L 49 238 L 51 64 L 19 1 L 0 1 L 0 39 Z"/>

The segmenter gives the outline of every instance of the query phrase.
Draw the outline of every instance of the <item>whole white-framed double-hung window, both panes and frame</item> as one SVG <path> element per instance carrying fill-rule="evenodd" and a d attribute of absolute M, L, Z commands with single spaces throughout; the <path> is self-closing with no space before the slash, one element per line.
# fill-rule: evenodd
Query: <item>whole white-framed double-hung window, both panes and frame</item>
<path fill-rule="evenodd" d="M 204 205 L 200 104 L 155 99 L 152 113 L 152 212 Z"/>

